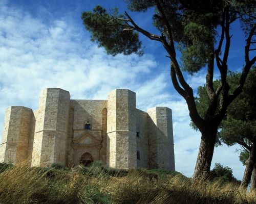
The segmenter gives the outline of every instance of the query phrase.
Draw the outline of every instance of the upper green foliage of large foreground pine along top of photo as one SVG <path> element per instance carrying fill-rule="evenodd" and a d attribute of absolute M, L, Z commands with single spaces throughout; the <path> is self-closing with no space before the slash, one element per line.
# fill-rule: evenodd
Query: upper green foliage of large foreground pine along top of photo
<path fill-rule="evenodd" d="M 127 8 L 134 12 L 145 12 L 155 7 L 152 17 L 153 25 L 160 31 L 159 35 L 163 35 L 168 41 L 166 23 L 159 14 L 155 1 L 125 0 L 125 3 Z M 218 28 L 221 26 L 224 7 L 227 5 L 230 7 L 230 19 L 240 17 L 245 27 L 253 22 L 253 16 L 255 16 L 253 13 L 255 7 L 252 7 L 255 3 L 252 0 L 162 0 L 160 4 L 172 30 L 172 37 L 182 53 L 182 68 L 190 74 L 199 71 L 206 65 L 209 57 L 214 55 L 216 48 L 214 46 L 219 39 Z M 131 29 L 134 25 L 132 24 L 131 27 L 131 23 L 125 19 L 127 20 L 127 16 L 118 14 L 116 8 L 110 14 L 106 13 L 101 6 L 96 6 L 93 12 L 82 13 L 83 23 L 91 33 L 91 39 L 96 41 L 100 47 L 104 47 L 106 53 L 113 56 L 120 53 L 142 55 L 138 32 L 135 31 L 136 29 Z"/>

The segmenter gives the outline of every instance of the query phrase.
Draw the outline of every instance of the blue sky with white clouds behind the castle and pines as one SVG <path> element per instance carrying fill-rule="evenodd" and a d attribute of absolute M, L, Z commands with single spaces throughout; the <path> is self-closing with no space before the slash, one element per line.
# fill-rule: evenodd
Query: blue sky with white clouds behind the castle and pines
<path fill-rule="evenodd" d="M 108 91 L 127 88 L 136 92 L 139 109 L 166 106 L 173 110 L 176 170 L 193 175 L 200 133 L 189 126 L 187 105 L 169 78 L 166 53 L 160 44 L 141 36 L 145 46 L 142 58 L 106 55 L 103 48 L 90 41 L 80 18 L 82 11 L 98 4 L 107 10 L 127 10 L 120 0 L 0 2 L 0 131 L 5 109 L 25 106 L 36 110 L 41 89 L 62 88 L 73 99 L 106 99 Z M 156 32 L 148 13 L 142 17 L 130 14 L 141 27 Z M 231 31 L 232 70 L 241 70 L 244 63 L 245 40 L 238 28 L 236 24 Z M 218 75 L 216 71 L 215 79 Z M 185 77 L 196 93 L 197 87 L 205 83 L 205 70 Z M 215 163 L 229 166 L 241 180 L 244 166 L 236 149 L 240 147 L 215 148 L 212 167 Z"/>

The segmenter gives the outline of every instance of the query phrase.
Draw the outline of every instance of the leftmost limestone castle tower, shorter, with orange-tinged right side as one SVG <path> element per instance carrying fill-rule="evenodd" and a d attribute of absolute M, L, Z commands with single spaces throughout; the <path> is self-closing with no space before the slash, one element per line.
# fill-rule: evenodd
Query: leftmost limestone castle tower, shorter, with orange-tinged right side
<path fill-rule="evenodd" d="M 1 162 L 18 163 L 27 159 L 32 110 L 12 106 L 6 110 Z"/>

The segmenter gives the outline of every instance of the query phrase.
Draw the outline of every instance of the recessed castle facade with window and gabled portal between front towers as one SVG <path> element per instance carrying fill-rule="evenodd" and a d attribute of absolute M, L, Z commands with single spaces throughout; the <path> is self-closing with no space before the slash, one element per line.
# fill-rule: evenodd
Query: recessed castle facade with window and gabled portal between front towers
<path fill-rule="evenodd" d="M 74 114 L 70 118 L 69 140 L 73 145 L 74 140 L 78 143 L 71 147 L 67 163 L 88 164 L 94 160 L 106 163 L 106 100 L 71 100 L 71 107 Z M 83 140 L 81 143 L 79 138 Z M 92 159 L 84 159 L 85 154 Z"/>

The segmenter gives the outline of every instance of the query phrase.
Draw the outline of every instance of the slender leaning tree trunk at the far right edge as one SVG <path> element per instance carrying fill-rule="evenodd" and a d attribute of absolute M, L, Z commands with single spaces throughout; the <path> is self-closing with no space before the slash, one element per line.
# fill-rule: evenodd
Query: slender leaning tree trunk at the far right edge
<path fill-rule="evenodd" d="M 249 158 L 245 162 L 244 176 L 243 176 L 243 180 L 241 182 L 240 187 L 247 189 L 247 187 L 250 183 L 250 180 L 251 180 L 251 174 L 252 174 L 252 170 L 253 170 L 255 161 L 256 161 L 256 143 L 253 142 L 251 145 L 251 151 L 250 151 Z"/>

